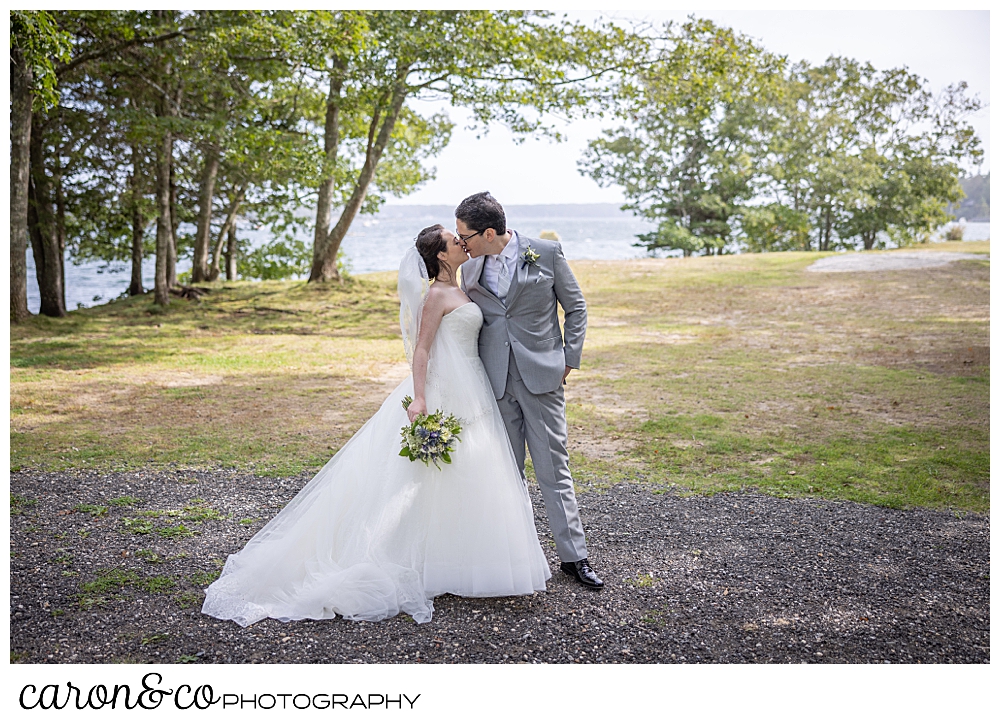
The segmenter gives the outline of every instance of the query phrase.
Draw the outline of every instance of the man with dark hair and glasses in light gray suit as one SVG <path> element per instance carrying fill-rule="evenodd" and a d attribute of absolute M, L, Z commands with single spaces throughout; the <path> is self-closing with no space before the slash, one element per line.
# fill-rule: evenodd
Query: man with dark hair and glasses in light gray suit
<path fill-rule="evenodd" d="M 603 588 L 587 561 L 566 452 L 563 383 L 580 367 L 587 331 L 580 286 L 562 247 L 508 229 L 489 192 L 462 201 L 455 223 L 472 257 L 462 265 L 462 289 L 483 310 L 479 356 L 521 476 L 527 442 L 562 570 L 588 588 Z M 556 302 L 565 313 L 565 341 Z"/>

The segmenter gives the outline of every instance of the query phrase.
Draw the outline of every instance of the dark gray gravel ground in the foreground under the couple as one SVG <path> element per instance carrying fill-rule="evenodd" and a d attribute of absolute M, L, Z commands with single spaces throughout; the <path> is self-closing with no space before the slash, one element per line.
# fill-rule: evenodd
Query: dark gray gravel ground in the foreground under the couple
<path fill-rule="evenodd" d="M 542 516 L 545 593 L 441 596 L 424 625 L 202 616 L 222 558 L 305 482 L 12 473 L 11 660 L 989 662 L 987 517 L 633 485 L 579 496 L 602 592 L 558 571 Z"/>

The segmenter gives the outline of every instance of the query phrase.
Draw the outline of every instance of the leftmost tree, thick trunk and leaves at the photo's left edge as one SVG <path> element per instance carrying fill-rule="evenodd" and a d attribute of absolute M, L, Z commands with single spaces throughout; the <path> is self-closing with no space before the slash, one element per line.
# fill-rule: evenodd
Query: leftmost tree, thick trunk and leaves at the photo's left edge
<path fill-rule="evenodd" d="M 68 36 L 44 10 L 10 13 L 10 317 L 28 318 L 28 281 L 25 255 L 31 174 L 33 111 L 52 107 L 56 97 L 53 61 L 65 62 Z M 58 297 L 57 297 L 58 299 Z M 65 309 L 43 299 L 43 313 L 61 316 Z M 65 307 L 65 304 L 63 304 Z"/>

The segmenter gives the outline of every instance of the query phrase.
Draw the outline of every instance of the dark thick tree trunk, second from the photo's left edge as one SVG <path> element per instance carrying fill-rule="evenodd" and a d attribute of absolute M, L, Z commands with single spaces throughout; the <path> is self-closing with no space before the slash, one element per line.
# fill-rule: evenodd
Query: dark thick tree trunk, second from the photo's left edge
<path fill-rule="evenodd" d="M 35 277 L 41 297 L 41 313 L 48 317 L 65 317 L 66 305 L 62 291 L 62 260 L 59 239 L 52 213 L 52 189 L 45 175 L 41 121 L 32 117 L 31 179 L 28 187 L 28 231 L 31 251 L 35 257 Z"/>

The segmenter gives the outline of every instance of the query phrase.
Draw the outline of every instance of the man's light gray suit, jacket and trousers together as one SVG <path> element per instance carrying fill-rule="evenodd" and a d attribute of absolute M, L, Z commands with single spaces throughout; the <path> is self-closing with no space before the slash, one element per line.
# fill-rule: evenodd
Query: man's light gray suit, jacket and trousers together
<path fill-rule="evenodd" d="M 462 289 L 483 310 L 479 356 L 521 474 L 527 443 L 559 558 L 579 561 L 587 544 L 569 471 L 562 379 L 566 366 L 580 366 L 587 304 L 557 242 L 517 234 L 517 243 L 506 305 L 482 283 L 485 257 L 462 265 Z M 534 264 L 522 261 L 529 245 L 539 255 Z M 557 302 L 565 312 L 562 331 Z"/>

